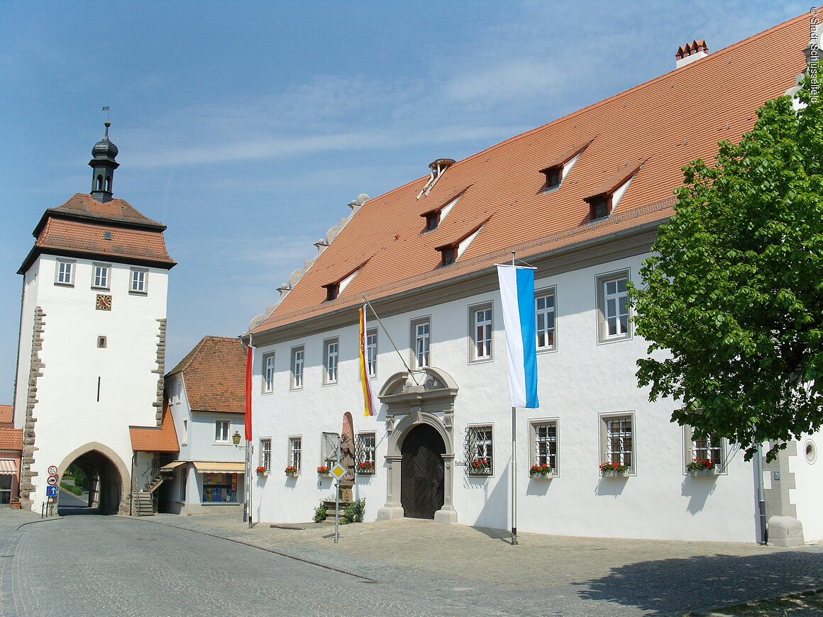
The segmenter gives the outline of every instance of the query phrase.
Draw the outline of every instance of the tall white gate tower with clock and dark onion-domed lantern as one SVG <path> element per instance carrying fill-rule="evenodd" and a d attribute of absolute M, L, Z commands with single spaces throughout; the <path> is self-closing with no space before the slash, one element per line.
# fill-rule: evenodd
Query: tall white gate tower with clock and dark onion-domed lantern
<path fill-rule="evenodd" d="M 24 431 L 21 503 L 40 510 L 49 467 L 77 462 L 91 505 L 128 513 L 130 425 L 162 420 L 165 225 L 112 197 L 117 146 L 95 144 L 91 194 L 49 208 L 23 262 L 14 422 Z M 151 457 L 143 453 L 141 457 Z"/>

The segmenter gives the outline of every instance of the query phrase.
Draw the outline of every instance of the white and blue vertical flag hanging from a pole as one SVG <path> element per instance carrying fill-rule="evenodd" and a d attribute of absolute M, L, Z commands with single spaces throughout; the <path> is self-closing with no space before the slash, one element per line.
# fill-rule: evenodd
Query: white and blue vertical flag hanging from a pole
<path fill-rule="evenodd" d="M 537 336 L 534 268 L 497 265 L 503 327 L 509 351 L 509 392 L 513 407 L 534 409 L 537 401 Z"/>

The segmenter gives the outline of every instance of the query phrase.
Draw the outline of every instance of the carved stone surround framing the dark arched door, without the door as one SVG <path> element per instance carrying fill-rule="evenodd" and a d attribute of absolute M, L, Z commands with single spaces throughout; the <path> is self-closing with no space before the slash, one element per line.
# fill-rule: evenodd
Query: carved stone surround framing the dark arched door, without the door
<path fill-rule="evenodd" d="M 444 502 L 435 512 L 435 522 L 458 522 L 453 506 L 454 486 L 454 399 L 458 385 L 449 373 L 427 367 L 412 373 L 394 373 L 386 380 L 378 395 L 387 406 L 386 432 L 388 453 L 386 467 L 386 503 L 377 511 L 377 519 L 402 518 L 400 501 L 402 483 L 402 443 L 407 434 L 420 424 L 434 427 L 445 445 Z"/>

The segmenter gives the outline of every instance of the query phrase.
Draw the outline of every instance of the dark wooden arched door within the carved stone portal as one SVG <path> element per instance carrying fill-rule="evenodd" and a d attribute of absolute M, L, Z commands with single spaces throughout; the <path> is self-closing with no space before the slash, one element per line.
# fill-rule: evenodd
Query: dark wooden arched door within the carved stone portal
<path fill-rule="evenodd" d="M 401 448 L 400 501 L 409 518 L 434 518 L 443 507 L 443 438 L 429 424 L 409 431 Z"/>

